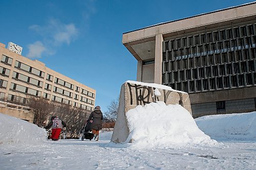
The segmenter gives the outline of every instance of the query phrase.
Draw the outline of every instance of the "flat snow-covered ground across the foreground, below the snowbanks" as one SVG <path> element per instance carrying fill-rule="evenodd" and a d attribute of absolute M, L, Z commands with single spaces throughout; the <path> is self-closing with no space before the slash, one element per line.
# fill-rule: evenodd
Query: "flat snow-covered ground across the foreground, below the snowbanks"
<path fill-rule="evenodd" d="M 0 145 L 1 169 L 256 169 L 256 142 L 217 147 L 134 150 L 99 141 L 48 140 L 43 144 Z"/>

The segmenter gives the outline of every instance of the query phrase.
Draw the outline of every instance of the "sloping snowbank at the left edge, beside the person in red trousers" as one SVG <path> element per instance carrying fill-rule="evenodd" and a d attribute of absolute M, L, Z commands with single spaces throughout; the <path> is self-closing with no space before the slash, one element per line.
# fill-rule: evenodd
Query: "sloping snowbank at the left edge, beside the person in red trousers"
<path fill-rule="evenodd" d="M 46 130 L 25 120 L 0 113 L 0 144 L 41 143 L 46 141 Z"/>

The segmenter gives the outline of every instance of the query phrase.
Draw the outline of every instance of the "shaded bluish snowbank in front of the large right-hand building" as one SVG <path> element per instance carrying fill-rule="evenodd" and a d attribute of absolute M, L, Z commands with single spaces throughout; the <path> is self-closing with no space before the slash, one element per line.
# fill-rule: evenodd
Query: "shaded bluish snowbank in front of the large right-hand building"
<path fill-rule="evenodd" d="M 256 140 L 256 112 L 209 115 L 195 119 L 216 140 Z"/>

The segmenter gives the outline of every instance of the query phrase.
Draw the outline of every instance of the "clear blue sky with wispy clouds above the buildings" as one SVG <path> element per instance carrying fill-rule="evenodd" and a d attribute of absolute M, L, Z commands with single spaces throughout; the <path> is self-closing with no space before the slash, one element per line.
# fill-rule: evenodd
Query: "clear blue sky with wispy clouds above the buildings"
<path fill-rule="evenodd" d="M 137 60 L 122 33 L 253 1 L 74 0 L 1 1 L 0 42 L 96 90 L 102 111 L 136 80 Z"/>

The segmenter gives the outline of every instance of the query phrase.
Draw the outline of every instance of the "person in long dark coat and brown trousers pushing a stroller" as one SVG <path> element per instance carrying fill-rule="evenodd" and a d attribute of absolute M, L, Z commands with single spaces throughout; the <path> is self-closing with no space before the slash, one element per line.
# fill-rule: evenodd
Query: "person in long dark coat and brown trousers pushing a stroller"
<path fill-rule="evenodd" d="M 94 134 L 94 140 L 98 141 L 99 140 L 99 130 L 102 129 L 102 120 L 103 120 L 103 115 L 102 112 L 100 111 L 100 107 L 96 106 L 94 108 L 94 111 L 90 114 L 88 120 L 93 120 L 93 123 L 91 125 L 92 132 Z"/>

